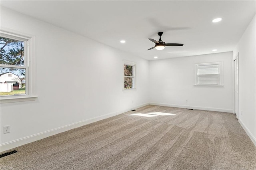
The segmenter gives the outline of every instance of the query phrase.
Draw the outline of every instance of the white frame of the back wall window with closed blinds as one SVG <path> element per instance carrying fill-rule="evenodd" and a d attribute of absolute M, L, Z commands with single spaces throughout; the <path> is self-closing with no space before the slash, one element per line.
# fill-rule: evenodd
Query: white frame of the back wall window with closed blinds
<path fill-rule="evenodd" d="M 218 73 L 218 84 L 198 84 L 198 66 L 200 65 L 219 65 L 219 73 Z M 216 74 L 208 74 L 208 75 L 216 75 Z M 213 63 L 195 63 L 194 64 L 194 85 L 196 86 L 223 86 L 223 61 L 213 62 Z"/>

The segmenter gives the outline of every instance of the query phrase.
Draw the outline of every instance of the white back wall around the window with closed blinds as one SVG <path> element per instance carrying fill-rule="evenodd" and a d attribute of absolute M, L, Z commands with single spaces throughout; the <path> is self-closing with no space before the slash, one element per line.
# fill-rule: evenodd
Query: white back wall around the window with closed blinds
<path fill-rule="evenodd" d="M 194 63 L 216 61 L 224 86 L 194 86 Z M 232 113 L 232 52 L 150 61 L 150 97 L 156 105 Z"/>

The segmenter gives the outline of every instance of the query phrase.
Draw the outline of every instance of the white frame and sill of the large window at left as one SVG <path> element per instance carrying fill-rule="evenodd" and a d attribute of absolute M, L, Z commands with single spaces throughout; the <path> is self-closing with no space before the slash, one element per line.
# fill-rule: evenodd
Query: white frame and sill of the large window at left
<path fill-rule="evenodd" d="M 36 95 L 36 36 L 0 28 L 0 36 L 24 41 L 24 66 L 0 64 L 0 67 L 26 69 L 26 94 L 0 96 L 0 103 L 33 101 Z"/>

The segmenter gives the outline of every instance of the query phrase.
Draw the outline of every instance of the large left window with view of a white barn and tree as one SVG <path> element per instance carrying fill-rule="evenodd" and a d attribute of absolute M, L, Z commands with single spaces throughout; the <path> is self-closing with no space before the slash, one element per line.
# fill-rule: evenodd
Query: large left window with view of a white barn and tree
<path fill-rule="evenodd" d="M 35 37 L 0 30 L 0 103 L 35 97 L 35 47 Z"/>

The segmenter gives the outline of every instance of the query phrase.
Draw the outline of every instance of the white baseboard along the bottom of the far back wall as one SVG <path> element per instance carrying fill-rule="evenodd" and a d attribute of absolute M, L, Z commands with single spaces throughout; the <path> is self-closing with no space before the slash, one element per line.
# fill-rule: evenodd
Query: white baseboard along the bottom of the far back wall
<path fill-rule="evenodd" d="M 178 108 L 184 108 L 184 109 L 198 109 L 198 110 L 205 110 L 205 111 L 216 111 L 216 112 L 233 113 L 232 109 L 222 109 L 222 108 L 214 108 L 214 107 L 172 105 L 172 104 L 165 104 L 165 103 L 149 103 L 149 105 L 157 105 L 157 106 L 167 106 L 167 107 L 178 107 Z"/>

